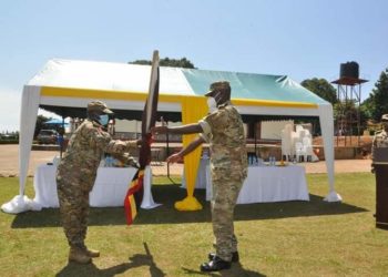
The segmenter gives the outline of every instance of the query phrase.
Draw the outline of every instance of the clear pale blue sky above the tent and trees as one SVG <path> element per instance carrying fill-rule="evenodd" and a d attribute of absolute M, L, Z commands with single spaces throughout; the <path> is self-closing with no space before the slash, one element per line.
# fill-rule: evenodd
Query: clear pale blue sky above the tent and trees
<path fill-rule="evenodd" d="M 0 132 L 18 131 L 23 85 L 53 58 L 334 81 L 356 61 L 368 98 L 388 68 L 386 0 L 0 1 Z M 40 113 L 45 114 L 42 111 Z"/>

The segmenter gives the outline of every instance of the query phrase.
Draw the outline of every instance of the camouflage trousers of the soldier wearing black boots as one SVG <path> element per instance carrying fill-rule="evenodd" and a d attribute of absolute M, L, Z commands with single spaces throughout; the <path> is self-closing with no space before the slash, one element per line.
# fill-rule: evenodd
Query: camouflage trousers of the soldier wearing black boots
<path fill-rule="evenodd" d="M 243 181 L 213 178 L 212 184 L 212 224 L 216 255 L 224 260 L 231 260 L 232 253 L 237 252 L 233 216 Z"/>

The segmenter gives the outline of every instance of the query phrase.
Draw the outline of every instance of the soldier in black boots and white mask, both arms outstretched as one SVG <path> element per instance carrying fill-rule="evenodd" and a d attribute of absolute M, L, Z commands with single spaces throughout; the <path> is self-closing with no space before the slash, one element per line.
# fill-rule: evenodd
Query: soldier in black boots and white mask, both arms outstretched
<path fill-rule="evenodd" d="M 247 154 L 242 117 L 229 102 L 229 83 L 226 81 L 213 83 L 205 96 L 214 98 L 217 110 L 196 124 L 176 127 L 157 126 L 153 129 L 153 133 L 201 133 L 186 148 L 170 156 L 169 162 L 182 160 L 203 142 L 210 143 L 213 184 L 212 223 L 216 253 L 208 255 L 210 261 L 202 264 L 201 270 L 216 271 L 229 268 L 232 261 L 239 259 L 233 214 L 247 175 Z"/>

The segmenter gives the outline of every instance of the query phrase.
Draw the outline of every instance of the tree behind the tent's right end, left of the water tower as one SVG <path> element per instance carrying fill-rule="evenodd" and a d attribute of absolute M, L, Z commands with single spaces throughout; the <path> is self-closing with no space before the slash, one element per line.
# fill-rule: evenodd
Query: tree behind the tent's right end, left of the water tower
<path fill-rule="evenodd" d="M 319 98 L 335 104 L 338 102 L 336 89 L 325 79 L 307 79 L 300 83 L 307 90 L 314 92 Z"/>

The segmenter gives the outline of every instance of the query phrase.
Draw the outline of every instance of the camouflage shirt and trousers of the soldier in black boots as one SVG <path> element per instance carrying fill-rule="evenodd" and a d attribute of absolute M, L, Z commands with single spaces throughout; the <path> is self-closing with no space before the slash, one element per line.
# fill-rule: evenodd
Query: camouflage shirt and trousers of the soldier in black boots
<path fill-rule="evenodd" d="M 210 137 L 213 183 L 212 223 L 216 255 L 231 260 L 237 250 L 233 214 L 239 191 L 247 176 L 247 154 L 241 115 L 229 102 L 200 121 Z"/>

